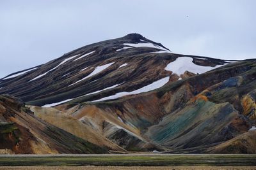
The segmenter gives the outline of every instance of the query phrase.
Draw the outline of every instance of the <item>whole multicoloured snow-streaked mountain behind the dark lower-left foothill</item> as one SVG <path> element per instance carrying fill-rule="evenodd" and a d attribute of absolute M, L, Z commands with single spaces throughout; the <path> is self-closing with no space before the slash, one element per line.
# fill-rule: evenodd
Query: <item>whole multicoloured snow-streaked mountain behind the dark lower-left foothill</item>
<path fill-rule="evenodd" d="M 256 59 L 181 55 L 140 34 L 0 80 L 36 119 L 116 152 L 256 153 L 255 90 Z"/>

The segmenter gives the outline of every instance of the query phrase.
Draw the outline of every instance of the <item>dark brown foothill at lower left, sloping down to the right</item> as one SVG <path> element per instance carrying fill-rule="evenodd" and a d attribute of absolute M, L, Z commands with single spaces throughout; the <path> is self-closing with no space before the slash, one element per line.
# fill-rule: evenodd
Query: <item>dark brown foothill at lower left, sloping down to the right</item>
<path fill-rule="evenodd" d="M 13 153 L 107 153 L 35 117 L 19 99 L 0 96 L 0 149 Z"/>

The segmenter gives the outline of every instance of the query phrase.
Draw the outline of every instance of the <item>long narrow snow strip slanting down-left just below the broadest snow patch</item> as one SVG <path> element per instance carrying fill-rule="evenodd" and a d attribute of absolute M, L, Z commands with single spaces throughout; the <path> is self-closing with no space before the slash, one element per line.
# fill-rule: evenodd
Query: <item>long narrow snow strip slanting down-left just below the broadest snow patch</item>
<path fill-rule="evenodd" d="M 119 97 L 131 95 L 131 94 L 140 94 L 140 93 L 143 93 L 143 92 L 148 92 L 148 91 L 151 91 L 151 90 L 155 90 L 155 89 L 158 89 L 158 88 L 162 87 L 166 83 L 168 83 L 169 79 L 170 79 L 170 77 L 167 76 L 167 77 L 161 78 L 160 80 L 157 80 L 157 81 L 155 81 L 155 82 L 153 82 L 149 85 L 146 85 L 145 87 L 142 87 L 141 89 L 134 90 L 132 92 L 119 92 L 119 93 L 116 93 L 113 96 L 103 97 L 102 99 L 98 99 L 98 100 L 95 100 L 93 102 L 106 101 L 106 100 L 116 99 L 116 98 L 119 98 Z"/>

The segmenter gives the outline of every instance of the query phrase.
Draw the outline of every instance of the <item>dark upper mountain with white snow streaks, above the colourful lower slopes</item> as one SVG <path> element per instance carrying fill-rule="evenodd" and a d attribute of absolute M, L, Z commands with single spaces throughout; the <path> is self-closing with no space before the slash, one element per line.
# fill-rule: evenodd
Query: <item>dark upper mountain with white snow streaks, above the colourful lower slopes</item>
<path fill-rule="evenodd" d="M 72 99 L 77 103 L 104 97 L 115 99 L 154 90 L 227 63 L 174 54 L 140 34 L 128 34 L 84 46 L 28 71 L 10 74 L 0 80 L 0 94 L 12 94 L 37 106 L 54 106 Z"/>

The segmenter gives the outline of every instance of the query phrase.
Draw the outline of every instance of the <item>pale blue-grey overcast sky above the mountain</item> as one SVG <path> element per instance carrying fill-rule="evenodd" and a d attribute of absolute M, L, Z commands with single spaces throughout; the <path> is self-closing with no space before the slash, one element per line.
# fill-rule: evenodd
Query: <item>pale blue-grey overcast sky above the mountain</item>
<path fill-rule="evenodd" d="M 1 0 L 0 77 L 137 32 L 175 53 L 256 58 L 256 1 Z"/>

